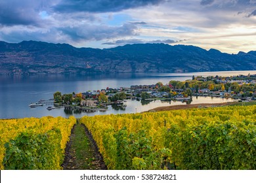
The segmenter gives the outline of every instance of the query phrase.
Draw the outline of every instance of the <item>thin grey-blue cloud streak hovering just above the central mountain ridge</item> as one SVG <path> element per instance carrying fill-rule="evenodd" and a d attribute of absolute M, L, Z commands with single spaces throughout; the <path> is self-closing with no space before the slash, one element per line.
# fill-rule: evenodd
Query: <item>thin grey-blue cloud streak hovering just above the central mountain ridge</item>
<path fill-rule="evenodd" d="M 185 41 L 185 40 L 183 40 Z M 125 44 L 145 44 L 145 43 L 164 43 L 164 44 L 172 44 L 175 42 L 181 42 L 181 41 L 174 41 L 171 39 L 167 40 L 153 40 L 153 41 L 146 41 L 142 39 L 119 39 L 114 42 L 104 42 L 102 44 L 108 44 L 108 45 L 125 45 Z"/>

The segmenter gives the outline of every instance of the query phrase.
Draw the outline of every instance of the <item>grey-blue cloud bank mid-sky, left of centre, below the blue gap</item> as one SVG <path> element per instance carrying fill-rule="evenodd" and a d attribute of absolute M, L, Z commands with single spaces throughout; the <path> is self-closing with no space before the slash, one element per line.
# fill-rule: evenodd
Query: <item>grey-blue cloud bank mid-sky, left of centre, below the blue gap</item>
<path fill-rule="evenodd" d="M 101 41 L 136 34 L 137 26 L 134 24 L 123 24 L 121 26 L 108 25 L 83 25 L 78 27 L 61 27 L 63 35 L 67 35 L 72 41 Z"/>

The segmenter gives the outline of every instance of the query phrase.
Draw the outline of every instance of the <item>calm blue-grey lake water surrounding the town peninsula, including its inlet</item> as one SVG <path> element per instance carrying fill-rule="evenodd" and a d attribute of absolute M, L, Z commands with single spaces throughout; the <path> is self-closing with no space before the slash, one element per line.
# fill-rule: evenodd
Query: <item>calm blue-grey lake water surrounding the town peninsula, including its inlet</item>
<path fill-rule="evenodd" d="M 109 75 L 35 75 L 35 76 L 0 76 L 0 118 L 25 118 L 41 116 L 63 116 L 75 117 L 93 116 L 98 114 L 123 114 L 150 110 L 155 107 L 168 105 L 186 105 L 181 102 L 152 101 L 143 104 L 140 101 L 127 100 L 125 108 L 112 108 L 100 112 L 65 112 L 64 108 L 47 110 L 43 107 L 30 108 L 30 103 L 39 99 L 53 98 L 56 91 L 62 93 L 79 93 L 88 90 L 101 90 L 109 88 L 130 87 L 131 85 L 156 84 L 163 82 L 167 84 L 170 80 L 188 80 L 192 76 L 233 76 L 256 74 L 256 71 L 226 71 L 205 73 L 146 73 L 146 74 L 109 74 Z M 193 103 L 222 103 L 232 99 L 221 99 L 211 97 L 193 97 Z"/>

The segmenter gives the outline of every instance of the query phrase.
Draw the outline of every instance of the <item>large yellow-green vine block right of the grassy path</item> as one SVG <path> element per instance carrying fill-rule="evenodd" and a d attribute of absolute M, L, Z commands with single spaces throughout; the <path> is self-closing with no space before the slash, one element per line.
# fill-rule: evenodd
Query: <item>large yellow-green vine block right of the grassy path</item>
<path fill-rule="evenodd" d="M 256 106 L 83 117 L 108 169 L 256 169 Z"/>

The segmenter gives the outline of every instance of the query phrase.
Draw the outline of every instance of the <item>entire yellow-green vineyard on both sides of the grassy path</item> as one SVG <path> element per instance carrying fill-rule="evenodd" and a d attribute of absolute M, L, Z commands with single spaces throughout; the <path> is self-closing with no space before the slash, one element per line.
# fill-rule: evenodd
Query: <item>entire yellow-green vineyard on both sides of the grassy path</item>
<path fill-rule="evenodd" d="M 108 169 L 256 169 L 256 105 L 84 116 Z M 1 169 L 62 169 L 76 120 L 0 120 Z"/>

